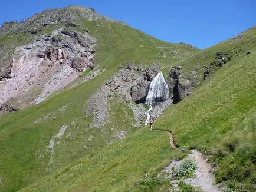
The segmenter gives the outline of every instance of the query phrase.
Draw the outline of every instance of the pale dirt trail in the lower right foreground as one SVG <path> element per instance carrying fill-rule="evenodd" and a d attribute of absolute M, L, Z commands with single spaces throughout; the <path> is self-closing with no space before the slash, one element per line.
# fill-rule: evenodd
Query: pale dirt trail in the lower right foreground
<path fill-rule="evenodd" d="M 173 148 L 176 148 L 175 141 L 173 140 L 172 132 L 169 132 L 170 135 L 170 145 Z M 188 159 L 191 159 L 195 161 L 197 168 L 195 170 L 195 177 L 194 178 L 186 178 L 184 180 L 185 183 L 191 184 L 192 186 L 198 186 L 201 187 L 202 190 L 206 192 L 215 192 L 219 191 L 218 187 L 214 186 L 212 183 L 214 182 L 214 176 L 210 173 L 211 167 L 206 162 L 206 159 L 203 157 L 203 155 L 197 151 L 197 150 L 191 150 L 192 154 L 189 154 Z M 171 167 L 178 167 L 180 164 L 180 161 L 172 161 L 169 168 Z"/>

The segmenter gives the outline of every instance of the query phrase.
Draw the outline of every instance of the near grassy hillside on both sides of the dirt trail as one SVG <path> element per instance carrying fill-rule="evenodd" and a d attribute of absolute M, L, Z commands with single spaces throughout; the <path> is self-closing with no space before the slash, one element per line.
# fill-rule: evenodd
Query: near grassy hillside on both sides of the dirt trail
<path fill-rule="evenodd" d="M 256 38 L 253 30 L 255 29 L 248 31 L 251 35 L 247 37 L 252 42 Z M 215 176 L 218 183 L 224 181 L 224 184 L 235 191 L 254 191 L 256 49 L 252 49 L 252 53 L 247 55 L 247 49 L 251 49 L 251 41 L 248 42 L 248 47 L 244 43 L 241 45 L 244 41 L 246 39 L 235 42 L 244 49 L 244 52 L 212 74 L 211 78 L 204 81 L 191 96 L 172 105 L 156 120 L 155 129 L 172 130 L 179 147 L 197 148 L 208 155 L 210 162 L 216 167 Z M 211 48 L 206 49 L 202 53 L 209 52 L 212 55 L 224 45 L 225 43 L 220 44 L 220 47 L 214 47 L 212 51 Z M 192 60 L 193 56 L 190 59 Z M 165 135 L 161 136 L 162 134 Z M 162 142 L 166 145 L 169 143 L 166 137 L 168 135 L 164 132 L 136 131 L 122 142 L 104 148 L 104 152 L 96 154 L 97 158 L 83 158 L 24 190 L 143 190 L 138 183 L 143 178 L 145 170 L 140 164 L 129 164 L 130 162 L 126 162 L 125 159 L 140 159 L 141 164 L 149 165 L 149 160 L 155 159 L 155 155 L 152 154 L 161 153 Z M 153 145 L 145 147 L 152 139 Z M 136 140 L 140 140 L 141 143 L 133 145 Z M 131 145 L 131 153 L 127 153 L 126 146 Z M 116 150 L 122 152 L 116 153 Z M 100 158 L 101 153 L 110 154 L 106 155 L 107 162 Z M 156 169 L 147 168 L 150 175 L 156 176 L 170 160 L 169 155 L 178 155 L 168 150 L 165 153 L 166 155 L 155 161 Z M 151 154 L 152 157 L 147 154 Z M 93 165 L 87 163 L 92 159 Z M 91 166 L 93 171 L 90 170 Z M 154 186 L 155 183 L 152 183 L 153 181 L 149 182 L 147 188 Z"/>

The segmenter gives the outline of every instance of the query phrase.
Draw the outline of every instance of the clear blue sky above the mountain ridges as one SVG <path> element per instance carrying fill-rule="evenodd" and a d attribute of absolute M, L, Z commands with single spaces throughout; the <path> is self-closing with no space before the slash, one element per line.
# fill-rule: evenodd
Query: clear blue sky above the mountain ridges
<path fill-rule="evenodd" d="M 186 42 L 200 49 L 256 25 L 256 0 L 0 0 L 0 23 L 68 5 L 93 7 L 163 41 Z"/>

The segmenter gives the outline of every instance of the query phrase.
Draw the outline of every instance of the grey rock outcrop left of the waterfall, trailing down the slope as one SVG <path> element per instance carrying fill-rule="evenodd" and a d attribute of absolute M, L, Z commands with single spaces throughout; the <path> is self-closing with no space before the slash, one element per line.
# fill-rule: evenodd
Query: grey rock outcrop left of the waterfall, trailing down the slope
<path fill-rule="evenodd" d="M 91 126 L 101 128 L 106 123 L 107 106 L 112 98 L 118 97 L 120 102 L 145 102 L 150 82 L 158 72 L 158 65 L 149 68 L 129 64 L 113 75 L 88 101 L 86 114 L 94 117 Z"/>

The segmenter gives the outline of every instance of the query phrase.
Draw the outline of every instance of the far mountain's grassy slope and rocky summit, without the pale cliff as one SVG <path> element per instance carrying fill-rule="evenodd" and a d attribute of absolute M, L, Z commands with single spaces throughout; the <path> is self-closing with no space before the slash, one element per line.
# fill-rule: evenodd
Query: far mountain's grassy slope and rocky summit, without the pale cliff
<path fill-rule="evenodd" d="M 63 14 L 66 16 L 61 16 Z M 0 38 L 1 64 L 6 64 L 9 58 L 6 60 L 4 55 L 11 57 L 15 47 L 31 43 L 44 35 L 52 35 L 52 31 L 60 28 L 80 33 L 86 30 L 97 38 L 95 70 L 102 68 L 104 72 L 84 84 L 76 87 L 70 85 L 68 88 L 73 88 L 55 92 L 45 102 L 0 117 L 0 187 L 3 191 L 16 191 L 25 187 L 84 155 L 111 145 L 119 140 L 116 135 L 137 130 L 133 127 L 133 111 L 124 102 L 110 102 L 108 118 L 113 120 L 106 120 L 107 125 L 103 128 L 91 127 L 92 118 L 86 115 L 89 98 L 99 90 L 101 84 L 119 71 L 119 65 L 123 67 L 130 62 L 150 65 L 159 62 L 164 67 L 180 58 L 162 57 L 159 55 L 162 49 L 166 52 L 179 49 L 179 57 L 197 51 L 190 45 L 159 41 L 122 22 L 99 16 L 91 9 L 71 6 L 45 11 L 21 24 L 5 25 Z M 75 81 L 79 82 L 88 73 L 88 70 L 84 74 L 78 73 L 81 77 Z M 28 95 L 24 98 L 27 99 Z M 21 97 L 14 101 L 17 100 L 21 101 Z"/>

